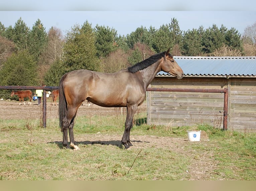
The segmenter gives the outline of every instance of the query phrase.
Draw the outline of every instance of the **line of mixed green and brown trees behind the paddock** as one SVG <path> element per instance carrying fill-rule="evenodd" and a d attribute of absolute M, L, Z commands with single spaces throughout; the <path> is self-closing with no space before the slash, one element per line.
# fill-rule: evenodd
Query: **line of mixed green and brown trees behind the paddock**
<path fill-rule="evenodd" d="M 126 36 L 86 20 L 64 36 L 55 27 L 46 32 L 40 19 L 29 29 L 19 18 L 13 27 L 0 22 L 0 85 L 58 86 L 66 72 L 113 73 L 168 48 L 173 56 L 256 56 L 255 33 L 256 22 L 243 36 L 215 24 L 181 31 L 172 18 L 158 29 L 141 26 Z"/>

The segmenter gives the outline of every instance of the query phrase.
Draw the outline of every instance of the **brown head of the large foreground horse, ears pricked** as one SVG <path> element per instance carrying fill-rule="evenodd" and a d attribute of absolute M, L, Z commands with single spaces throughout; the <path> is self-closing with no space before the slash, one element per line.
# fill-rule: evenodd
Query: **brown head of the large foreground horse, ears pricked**
<path fill-rule="evenodd" d="M 161 63 L 161 70 L 175 76 L 177 79 L 181 79 L 184 76 L 183 70 L 173 59 L 169 51 L 170 49 L 168 49 L 165 53 L 165 58 Z"/>

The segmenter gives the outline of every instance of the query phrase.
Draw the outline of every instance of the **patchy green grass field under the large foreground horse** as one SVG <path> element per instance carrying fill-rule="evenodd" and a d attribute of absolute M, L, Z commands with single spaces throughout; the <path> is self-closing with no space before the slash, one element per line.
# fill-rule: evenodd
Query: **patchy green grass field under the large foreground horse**
<path fill-rule="evenodd" d="M 79 151 L 62 147 L 58 120 L 0 119 L 1 180 L 256 180 L 256 133 L 199 125 L 207 139 L 187 141 L 190 127 L 148 126 L 136 115 L 133 147 L 120 140 L 125 118 L 77 117 Z M 50 125 L 49 125 L 50 124 Z"/>

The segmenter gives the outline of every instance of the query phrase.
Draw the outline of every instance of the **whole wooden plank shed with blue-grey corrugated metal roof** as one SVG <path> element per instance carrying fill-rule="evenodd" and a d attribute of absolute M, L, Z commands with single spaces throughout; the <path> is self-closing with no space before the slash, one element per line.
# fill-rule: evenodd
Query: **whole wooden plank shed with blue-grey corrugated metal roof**
<path fill-rule="evenodd" d="M 160 72 L 149 88 L 225 89 L 227 129 L 256 131 L 256 57 L 174 57 L 184 71 L 181 80 Z M 224 94 L 147 92 L 147 123 L 223 128 Z"/>

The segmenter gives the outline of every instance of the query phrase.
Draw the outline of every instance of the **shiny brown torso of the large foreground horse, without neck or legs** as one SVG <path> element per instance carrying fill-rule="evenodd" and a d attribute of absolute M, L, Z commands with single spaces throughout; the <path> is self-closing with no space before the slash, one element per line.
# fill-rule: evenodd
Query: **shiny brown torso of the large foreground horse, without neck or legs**
<path fill-rule="evenodd" d="M 126 106 L 144 96 L 145 90 L 137 74 L 122 70 L 116 73 L 100 73 L 77 70 L 63 78 L 66 99 L 89 100 L 104 107 Z"/>

